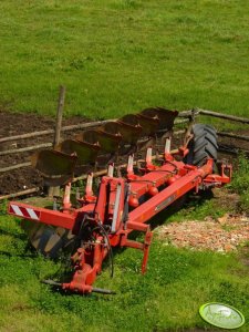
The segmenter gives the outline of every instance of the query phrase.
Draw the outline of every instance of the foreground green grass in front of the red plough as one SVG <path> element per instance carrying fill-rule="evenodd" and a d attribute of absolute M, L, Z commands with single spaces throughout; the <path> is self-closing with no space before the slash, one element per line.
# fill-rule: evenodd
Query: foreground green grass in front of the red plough
<path fill-rule="evenodd" d="M 145 276 L 139 273 L 142 252 L 114 252 L 114 278 L 106 267 L 95 286 L 112 289 L 116 295 L 66 295 L 40 282 L 58 278 L 63 263 L 37 255 L 19 221 L 3 211 L 4 207 L 0 216 L 0 331 L 208 329 L 198 308 L 209 301 L 238 308 L 247 321 L 240 331 L 249 329 L 249 267 L 238 253 L 177 249 L 155 236 Z"/>

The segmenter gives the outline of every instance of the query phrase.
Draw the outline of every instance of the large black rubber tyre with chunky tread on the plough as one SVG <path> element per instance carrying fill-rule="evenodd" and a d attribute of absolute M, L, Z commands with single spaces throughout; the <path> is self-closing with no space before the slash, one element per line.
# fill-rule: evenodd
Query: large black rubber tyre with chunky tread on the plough
<path fill-rule="evenodd" d="M 189 142 L 189 154 L 184 162 L 188 165 L 201 166 L 207 158 L 217 162 L 217 133 L 210 125 L 196 124 L 193 126 L 191 133 L 194 138 Z"/>

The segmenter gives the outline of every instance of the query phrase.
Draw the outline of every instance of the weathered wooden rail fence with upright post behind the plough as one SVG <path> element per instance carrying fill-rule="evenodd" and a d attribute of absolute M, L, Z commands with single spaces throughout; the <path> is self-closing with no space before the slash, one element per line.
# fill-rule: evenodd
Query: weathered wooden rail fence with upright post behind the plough
<path fill-rule="evenodd" d="M 93 127 L 97 127 L 97 126 L 103 125 L 106 122 L 108 122 L 108 121 L 97 121 L 97 122 L 91 122 L 91 123 L 80 123 L 76 125 L 61 126 L 63 103 L 64 103 L 64 91 L 63 91 L 63 87 L 61 87 L 59 106 L 58 106 L 58 116 L 56 116 L 54 128 L 41 131 L 41 132 L 27 133 L 27 134 L 22 134 L 22 135 L 14 135 L 14 136 L 10 136 L 10 137 L 2 137 L 2 138 L 0 138 L 0 146 L 3 143 L 6 144 L 6 143 L 15 142 L 15 141 L 20 141 L 20 139 L 41 137 L 41 136 L 48 136 L 48 135 L 50 135 L 50 136 L 53 135 L 53 142 L 37 144 L 33 146 L 27 146 L 27 147 L 21 147 L 21 148 L 11 148 L 11 149 L 9 148 L 9 149 L 0 151 L 0 157 L 7 156 L 7 155 L 12 155 L 12 154 L 22 154 L 22 153 L 27 153 L 27 152 L 34 152 L 34 151 L 38 151 L 41 148 L 50 148 L 60 142 L 62 132 L 72 132 L 75 129 L 93 128 Z M 179 125 L 195 122 L 195 121 L 199 120 L 199 116 L 201 116 L 201 115 L 222 118 L 226 121 L 232 121 L 232 122 L 242 123 L 242 124 L 247 124 L 247 125 L 249 124 L 249 118 L 243 118 L 243 117 L 226 115 L 226 114 L 217 113 L 217 112 L 212 112 L 212 111 L 196 108 L 196 110 L 190 110 L 190 111 L 183 111 L 179 113 L 178 118 L 175 121 L 174 135 L 179 135 L 185 132 L 184 129 L 179 129 L 179 128 L 177 129 L 177 127 Z M 115 121 L 115 120 L 112 120 L 112 121 Z M 237 135 L 234 133 L 218 132 L 218 136 L 228 137 L 228 138 L 232 138 L 232 139 L 239 139 L 239 141 L 243 141 L 243 142 L 249 142 L 249 136 Z M 248 148 L 242 148 L 242 149 L 247 154 L 249 154 L 249 144 L 248 144 Z M 231 153 L 231 154 L 238 153 L 238 149 L 235 149 L 231 147 L 229 149 L 229 146 L 225 146 L 225 147 L 220 146 L 220 151 L 226 152 L 226 153 Z M 30 166 L 31 166 L 31 163 L 25 162 L 25 163 L 21 163 L 21 164 L 17 164 L 17 165 L 2 167 L 2 168 L 0 168 L 0 174 L 11 172 L 13 169 L 22 168 L 22 167 L 30 167 Z M 96 173 L 95 176 L 101 176 L 104 174 L 106 174 L 106 170 L 101 170 L 101 172 Z M 81 176 L 80 178 L 75 178 L 75 180 L 84 179 L 84 178 L 85 178 L 85 176 Z M 30 195 L 30 194 L 34 194 L 37 191 L 39 191 L 39 188 L 30 188 L 30 189 L 25 189 L 25 190 L 22 190 L 19 193 L 0 196 L 0 200 L 13 198 L 13 197 L 18 197 L 18 196 L 23 196 L 23 195 Z"/>

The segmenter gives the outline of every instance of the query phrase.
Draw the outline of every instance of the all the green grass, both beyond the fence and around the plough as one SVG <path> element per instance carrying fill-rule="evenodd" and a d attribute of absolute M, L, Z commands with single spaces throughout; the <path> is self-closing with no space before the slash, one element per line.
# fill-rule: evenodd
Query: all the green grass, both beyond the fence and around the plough
<path fill-rule="evenodd" d="M 248 116 L 248 12 L 246 0 L 1 0 L 0 107 L 54 115 L 65 84 L 68 116 L 110 118 L 149 105 Z M 248 172 L 241 159 L 231 185 L 247 211 Z M 1 204 L 0 332 L 214 331 L 198 315 L 210 301 L 237 307 L 246 317 L 239 331 L 249 331 L 249 246 L 196 252 L 155 236 L 145 276 L 141 252 L 115 251 L 114 278 L 105 268 L 96 287 L 116 295 L 65 295 L 40 282 L 63 263 L 37 255 L 4 212 Z M 207 200 L 167 220 L 224 212 Z"/>

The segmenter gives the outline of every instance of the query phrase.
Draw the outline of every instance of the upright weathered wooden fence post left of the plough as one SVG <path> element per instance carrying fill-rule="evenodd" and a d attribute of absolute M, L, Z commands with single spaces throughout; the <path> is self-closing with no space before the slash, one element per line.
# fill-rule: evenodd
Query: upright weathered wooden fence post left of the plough
<path fill-rule="evenodd" d="M 65 103 L 65 86 L 60 86 L 59 100 L 58 100 L 58 112 L 56 112 L 56 121 L 54 128 L 54 137 L 53 137 L 53 148 L 55 148 L 61 141 L 61 127 L 62 127 L 62 116 Z M 60 196 L 60 187 L 49 187 L 48 194 L 50 197 Z"/>

